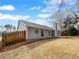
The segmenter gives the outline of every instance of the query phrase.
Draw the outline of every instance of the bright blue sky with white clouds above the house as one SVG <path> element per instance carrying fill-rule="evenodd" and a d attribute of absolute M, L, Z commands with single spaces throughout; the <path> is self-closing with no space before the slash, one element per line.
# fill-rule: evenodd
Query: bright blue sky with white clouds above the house
<path fill-rule="evenodd" d="M 56 13 L 61 0 L 0 0 L 0 26 L 17 26 L 18 20 L 26 20 L 50 26 L 50 16 Z M 62 8 L 74 6 L 76 0 L 64 0 Z"/>

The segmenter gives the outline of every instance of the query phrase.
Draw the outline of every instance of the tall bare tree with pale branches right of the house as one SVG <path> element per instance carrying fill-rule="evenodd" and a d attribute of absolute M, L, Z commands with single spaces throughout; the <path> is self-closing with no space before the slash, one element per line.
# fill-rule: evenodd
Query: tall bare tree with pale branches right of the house
<path fill-rule="evenodd" d="M 51 1 L 51 0 L 47 0 L 47 1 Z M 58 30 L 58 27 L 62 31 L 62 29 L 63 29 L 63 22 L 65 20 L 68 20 L 68 18 L 69 18 L 69 20 L 71 20 L 70 22 L 73 24 L 73 26 L 79 21 L 79 15 L 77 14 L 78 11 L 79 11 L 79 0 L 77 0 L 77 3 L 73 7 L 66 8 L 67 12 L 63 10 L 62 6 L 63 6 L 64 3 L 65 3 L 64 0 L 61 0 L 61 3 L 59 5 L 59 8 L 56 11 L 56 13 L 54 13 L 54 14 L 51 13 L 50 19 L 52 21 L 52 24 L 53 24 L 53 20 L 56 20 L 55 21 L 55 24 L 56 24 L 55 28 L 57 27 L 55 29 L 56 32 Z M 76 6 L 77 6 L 77 8 L 76 8 Z M 74 10 L 73 10 L 73 8 L 74 8 Z M 77 9 L 77 11 L 75 10 L 75 8 Z M 68 23 L 67 23 L 67 25 L 68 25 Z"/>

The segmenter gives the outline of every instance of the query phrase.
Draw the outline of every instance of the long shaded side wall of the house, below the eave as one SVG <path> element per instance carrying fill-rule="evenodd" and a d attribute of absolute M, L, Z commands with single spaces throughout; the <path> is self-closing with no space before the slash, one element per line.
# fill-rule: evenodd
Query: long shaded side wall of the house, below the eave
<path fill-rule="evenodd" d="M 38 33 L 35 33 L 35 31 L 38 30 Z M 28 39 L 40 39 L 40 38 L 48 38 L 51 37 L 49 36 L 52 35 L 52 31 L 49 30 L 43 30 L 44 36 L 41 36 L 41 29 L 36 29 L 36 28 L 30 28 L 28 27 Z"/>

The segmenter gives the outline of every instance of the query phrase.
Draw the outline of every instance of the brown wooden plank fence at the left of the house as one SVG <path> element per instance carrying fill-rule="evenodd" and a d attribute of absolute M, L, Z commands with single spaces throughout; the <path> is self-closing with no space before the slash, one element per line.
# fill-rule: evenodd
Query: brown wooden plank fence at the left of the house
<path fill-rule="evenodd" d="M 26 40 L 26 31 L 17 31 L 2 34 L 2 46 L 8 46 Z"/>

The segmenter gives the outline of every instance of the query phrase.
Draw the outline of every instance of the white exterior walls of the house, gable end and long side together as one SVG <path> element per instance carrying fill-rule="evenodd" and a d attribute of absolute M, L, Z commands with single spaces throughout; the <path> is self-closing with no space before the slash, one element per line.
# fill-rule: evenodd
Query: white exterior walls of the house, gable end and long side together
<path fill-rule="evenodd" d="M 35 31 L 38 30 L 38 33 L 35 33 Z M 43 31 L 44 36 L 41 36 L 41 30 Z M 52 35 L 52 30 L 45 30 L 45 29 L 38 29 L 38 28 L 32 28 L 27 27 L 26 24 L 23 22 L 19 22 L 17 31 L 26 31 L 26 39 L 40 39 L 40 38 L 48 38 Z M 49 36 L 50 32 L 50 36 Z"/>

